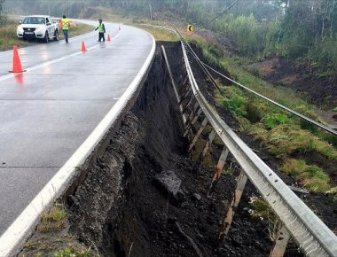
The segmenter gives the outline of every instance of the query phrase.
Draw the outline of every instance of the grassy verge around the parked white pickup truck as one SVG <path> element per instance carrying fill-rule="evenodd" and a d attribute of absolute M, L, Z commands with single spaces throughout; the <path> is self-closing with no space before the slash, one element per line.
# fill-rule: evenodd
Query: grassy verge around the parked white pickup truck
<path fill-rule="evenodd" d="M 27 42 L 21 40 L 16 35 L 16 28 L 18 25 L 10 23 L 10 25 L 6 27 L 0 27 L 0 51 L 11 50 L 13 45 L 17 45 L 18 47 L 25 47 L 28 45 L 32 45 L 35 42 Z M 82 24 L 82 23 L 72 23 L 72 27 L 69 31 L 70 36 L 82 35 L 84 33 L 90 32 L 93 30 L 93 27 Z M 59 38 L 63 38 L 63 34 L 59 33 Z"/>

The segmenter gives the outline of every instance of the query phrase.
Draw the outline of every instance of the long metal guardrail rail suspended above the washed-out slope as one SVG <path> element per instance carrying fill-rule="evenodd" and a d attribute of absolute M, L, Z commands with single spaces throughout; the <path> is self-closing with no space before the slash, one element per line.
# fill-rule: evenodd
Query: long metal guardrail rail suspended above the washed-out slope
<path fill-rule="evenodd" d="M 190 61 L 185 51 L 185 44 L 188 46 L 189 44 L 184 41 L 184 37 L 179 31 L 176 28 L 170 29 L 148 24 L 142 24 L 142 26 L 164 29 L 180 38 L 184 63 L 193 95 L 197 99 L 202 112 L 216 130 L 216 134 L 222 139 L 223 144 L 239 162 L 240 167 L 255 185 L 255 188 L 261 192 L 263 198 L 285 225 L 286 230 L 300 245 L 302 251 L 312 257 L 337 256 L 337 237 L 333 231 L 289 189 L 286 183 L 231 130 L 216 113 L 215 109 L 208 104 L 194 78 Z"/>

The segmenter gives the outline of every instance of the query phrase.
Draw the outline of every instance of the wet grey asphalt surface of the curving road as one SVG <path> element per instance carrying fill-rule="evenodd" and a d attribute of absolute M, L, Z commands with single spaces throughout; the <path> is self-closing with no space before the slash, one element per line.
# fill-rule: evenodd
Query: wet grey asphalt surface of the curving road
<path fill-rule="evenodd" d="M 19 77 L 4 78 L 12 51 L 0 52 L 0 235 L 105 117 L 152 49 L 143 30 L 118 32 L 111 23 L 106 30 L 111 43 L 97 43 L 92 32 L 21 49 L 25 68 L 66 58 Z M 67 58 L 82 40 L 93 49 Z"/>

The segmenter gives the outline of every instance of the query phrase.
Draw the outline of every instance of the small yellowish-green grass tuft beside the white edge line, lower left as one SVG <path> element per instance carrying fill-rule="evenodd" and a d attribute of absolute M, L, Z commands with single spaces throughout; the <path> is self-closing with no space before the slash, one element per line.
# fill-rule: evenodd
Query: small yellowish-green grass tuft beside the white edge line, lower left
<path fill-rule="evenodd" d="M 63 230 L 66 227 L 67 212 L 62 205 L 56 205 L 48 213 L 43 214 L 37 226 L 40 233 Z"/>

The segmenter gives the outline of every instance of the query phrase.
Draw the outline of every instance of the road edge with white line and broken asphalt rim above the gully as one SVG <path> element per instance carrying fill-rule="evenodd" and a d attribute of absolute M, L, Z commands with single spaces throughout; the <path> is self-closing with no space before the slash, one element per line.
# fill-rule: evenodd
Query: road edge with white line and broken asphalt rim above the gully
<path fill-rule="evenodd" d="M 81 181 L 81 177 L 83 176 L 82 171 L 87 170 L 105 152 L 110 138 L 120 128 L 125 114 L 136 102 L 153 64 L 156 42 L 153 35 L 145 30 L 143 31 L 150 35 L 153 42 L 152 49 L 145 59 L 145 63 L 134 80 L 129 84 L 128 89 L 106 114 L 105 118 L 99 122 L 90 136 L 87 137 L 70 159 L 67 160 L 65 165 L 59 169 L 49 183 L 43 187 L 43 190 L 35 196 L 35 199 L 30 202 L 19 217 L 4 232 L 0 238 L 0 256 L 12 256 L 18 253 L 22 244 L 34 232 L 35 226 L 40 221 L 41 214 L 47 211 L 52 203 L 63 194 L 68 191 L 74 191 L 76 184 Z"/>

